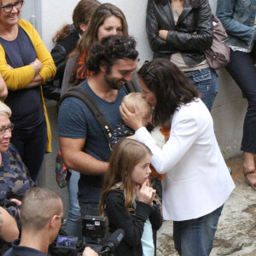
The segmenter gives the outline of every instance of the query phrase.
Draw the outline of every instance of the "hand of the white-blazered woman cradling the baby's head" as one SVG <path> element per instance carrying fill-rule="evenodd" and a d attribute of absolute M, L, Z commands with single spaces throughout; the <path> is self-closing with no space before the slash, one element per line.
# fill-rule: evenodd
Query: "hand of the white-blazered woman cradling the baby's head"
<path fill-rule="evenodd" d="M 125 125 L 131 127 L 131 129 L 133 129 L 134 131 L 137 131 L 137 129 L 143 127 L 143 118 L 136 104 L 133 105 L 133 108 L 135 110 L 135 113 L 131 113 L 128 108 L 125 107 L 125 103 L 122 102 L 119 110 L 121 113 L 121 117 L 125 122 Z"/>

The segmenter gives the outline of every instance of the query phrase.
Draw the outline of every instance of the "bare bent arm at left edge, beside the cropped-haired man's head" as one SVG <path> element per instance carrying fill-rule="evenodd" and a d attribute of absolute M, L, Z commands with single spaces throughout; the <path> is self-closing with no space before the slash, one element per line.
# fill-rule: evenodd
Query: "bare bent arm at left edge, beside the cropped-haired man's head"
<path fill-rule="evenodd" d="M 13 218 L 3 207 L 0 207 L 0 237 L 4 241 L 10 242 L 17 239 L 19 234 L 20 231 L 15 218 Z"/>

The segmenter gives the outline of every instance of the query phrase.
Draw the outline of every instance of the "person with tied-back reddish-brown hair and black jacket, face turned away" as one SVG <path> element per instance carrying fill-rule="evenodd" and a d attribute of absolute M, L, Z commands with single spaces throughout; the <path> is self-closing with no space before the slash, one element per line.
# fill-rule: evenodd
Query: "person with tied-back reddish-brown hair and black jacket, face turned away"
<path fill-rule="evenodd" d="M 44 96 L 49 100 L 59 101 L 61 98 L 61 83 L 66 67 L 67 56 L 76 48 L 79 38 L 88 27 L 90 16 L 101 5 L 96 0 L 81 0 L 73 9 L 73 24 L 63 26 L 55 33 L 53 42 L 55 47 L 51 50 L 56 74 L 53 79 L 49 79 L 43 87 Z"/>

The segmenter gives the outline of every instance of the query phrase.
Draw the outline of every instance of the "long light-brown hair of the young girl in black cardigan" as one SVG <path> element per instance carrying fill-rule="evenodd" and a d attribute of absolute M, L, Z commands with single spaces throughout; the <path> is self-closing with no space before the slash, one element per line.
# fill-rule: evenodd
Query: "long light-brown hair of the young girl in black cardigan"
<path fill-rule="evenodd" d="M 102 187 L 102 196 L 99 205 L 99 214 L 101 216 L 104 215 L 106 195 L 111 189 L 123 190 L 126 210 L 131 213 L 135 212 L 135 195 L 131 181 L 131 172 L 147 154 L 151 154 L 149 148 L 136 140 L 125 138 L 115 145 Z M 121 183 L 121 185 L 118 186 L 117 183 Z"/>

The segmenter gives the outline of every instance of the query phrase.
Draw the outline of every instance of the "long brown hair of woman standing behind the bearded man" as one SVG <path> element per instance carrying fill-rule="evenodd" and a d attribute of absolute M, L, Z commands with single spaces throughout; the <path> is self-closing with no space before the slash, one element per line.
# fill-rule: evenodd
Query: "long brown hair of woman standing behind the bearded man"
<path fill-rule="evenodd" d="M 77 48 L 75 49 L 78 55 L 82 54 L 85 49 L 90 55 L 90 50 L 98 39 L 97 33 L 99 27 L 102 26 L 106 19 L 113 15 L 121 20 L 123 35 L 128 36 L 128 26 L 123 12 L 112 3 L 102 3 L 91 16 L 89 26 L 79 40 Z"/>

